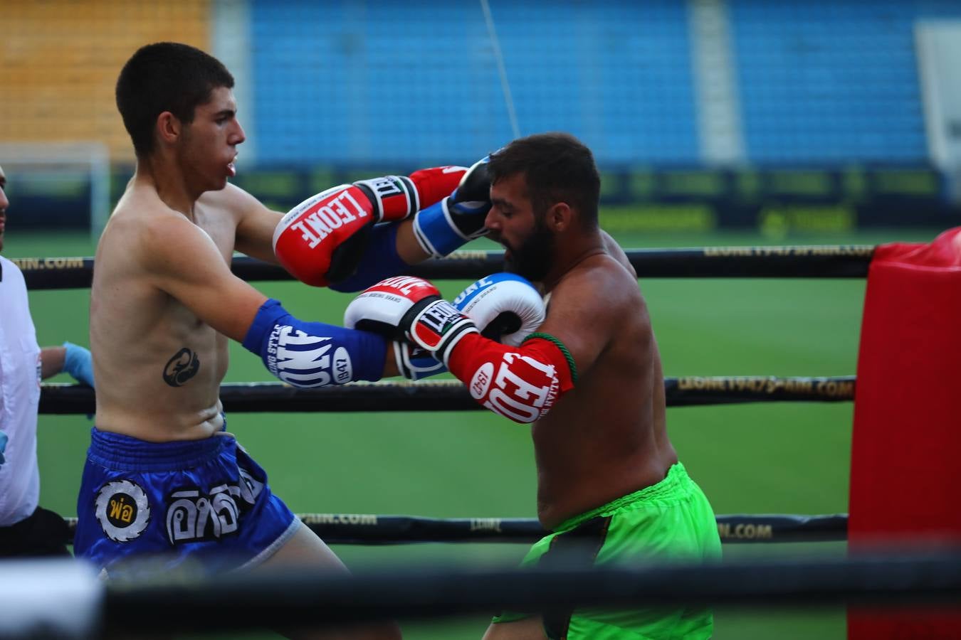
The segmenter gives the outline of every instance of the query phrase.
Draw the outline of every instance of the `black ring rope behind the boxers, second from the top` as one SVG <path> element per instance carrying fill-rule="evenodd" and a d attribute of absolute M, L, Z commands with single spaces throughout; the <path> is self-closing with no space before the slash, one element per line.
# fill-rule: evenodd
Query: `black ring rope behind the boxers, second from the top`
<path fill-rule="evenodd" d="M 842 402 L 854 399 L 854 376 L 776 378 L 735 376 L 666 378 L 668 407 L 744 402 Z M 299 389 L 280 382 L 228 383 L 220 386 L 224 411 L 240 413 L 396 412 L 484 410 L 456 380 L 355 382 Z M 89 387 L 41 385 L 39 413 L 92 414 Z"/>

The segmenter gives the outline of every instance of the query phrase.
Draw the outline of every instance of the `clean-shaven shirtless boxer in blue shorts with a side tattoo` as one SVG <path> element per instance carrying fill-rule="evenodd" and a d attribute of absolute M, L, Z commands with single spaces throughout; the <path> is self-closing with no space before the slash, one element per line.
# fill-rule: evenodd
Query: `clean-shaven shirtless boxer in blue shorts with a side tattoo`
<path fill-rule="evenodd" d="M 228 183 L 244 141 L 233 85 L 217 59 L 170 42 L 139 49 L 117 81 L 137 164 L 96 253 L 96 427 L 74 542 L 107 575 L 146 554 L 169 566 L 199 558 L 211 571 L 344 571 L 225 431 L 227 344 L 244 344 L 301 387 L 393 374 L 395 349 L 379 335 L 290 316 L 231 273 L 234 249 L 309 284 L 356 291 L 463 244 L 489 207 L 486 178 L 481 201 L 462 201 L 452 192 L 459 184 L 466 196 L 471 174 L 441 167 L 341 185 L 286 216 L 269 211 Z"/>

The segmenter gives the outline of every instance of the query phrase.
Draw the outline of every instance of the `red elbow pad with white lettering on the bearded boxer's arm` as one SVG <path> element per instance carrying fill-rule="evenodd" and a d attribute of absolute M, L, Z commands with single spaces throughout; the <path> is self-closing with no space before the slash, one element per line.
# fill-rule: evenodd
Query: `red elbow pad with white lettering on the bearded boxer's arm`
<path fill-rule="evenodd" d="M 547 415 L 561 395 L 574 389 L 567 357 L 544 338 L 516 347 L 469 334 L 454 347 L 448 368 L 481 405 L 515 422 Z"/>

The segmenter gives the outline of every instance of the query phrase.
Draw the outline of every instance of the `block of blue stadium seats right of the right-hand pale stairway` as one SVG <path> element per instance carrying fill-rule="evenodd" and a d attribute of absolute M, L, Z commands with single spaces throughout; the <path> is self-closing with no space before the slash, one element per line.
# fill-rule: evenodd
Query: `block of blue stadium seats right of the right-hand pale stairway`
<path fill-rule="evenodd" d="M 961 17 L 961 3 L 728 5 L 753 162 L 924 162 L 914 23 Z"/>

